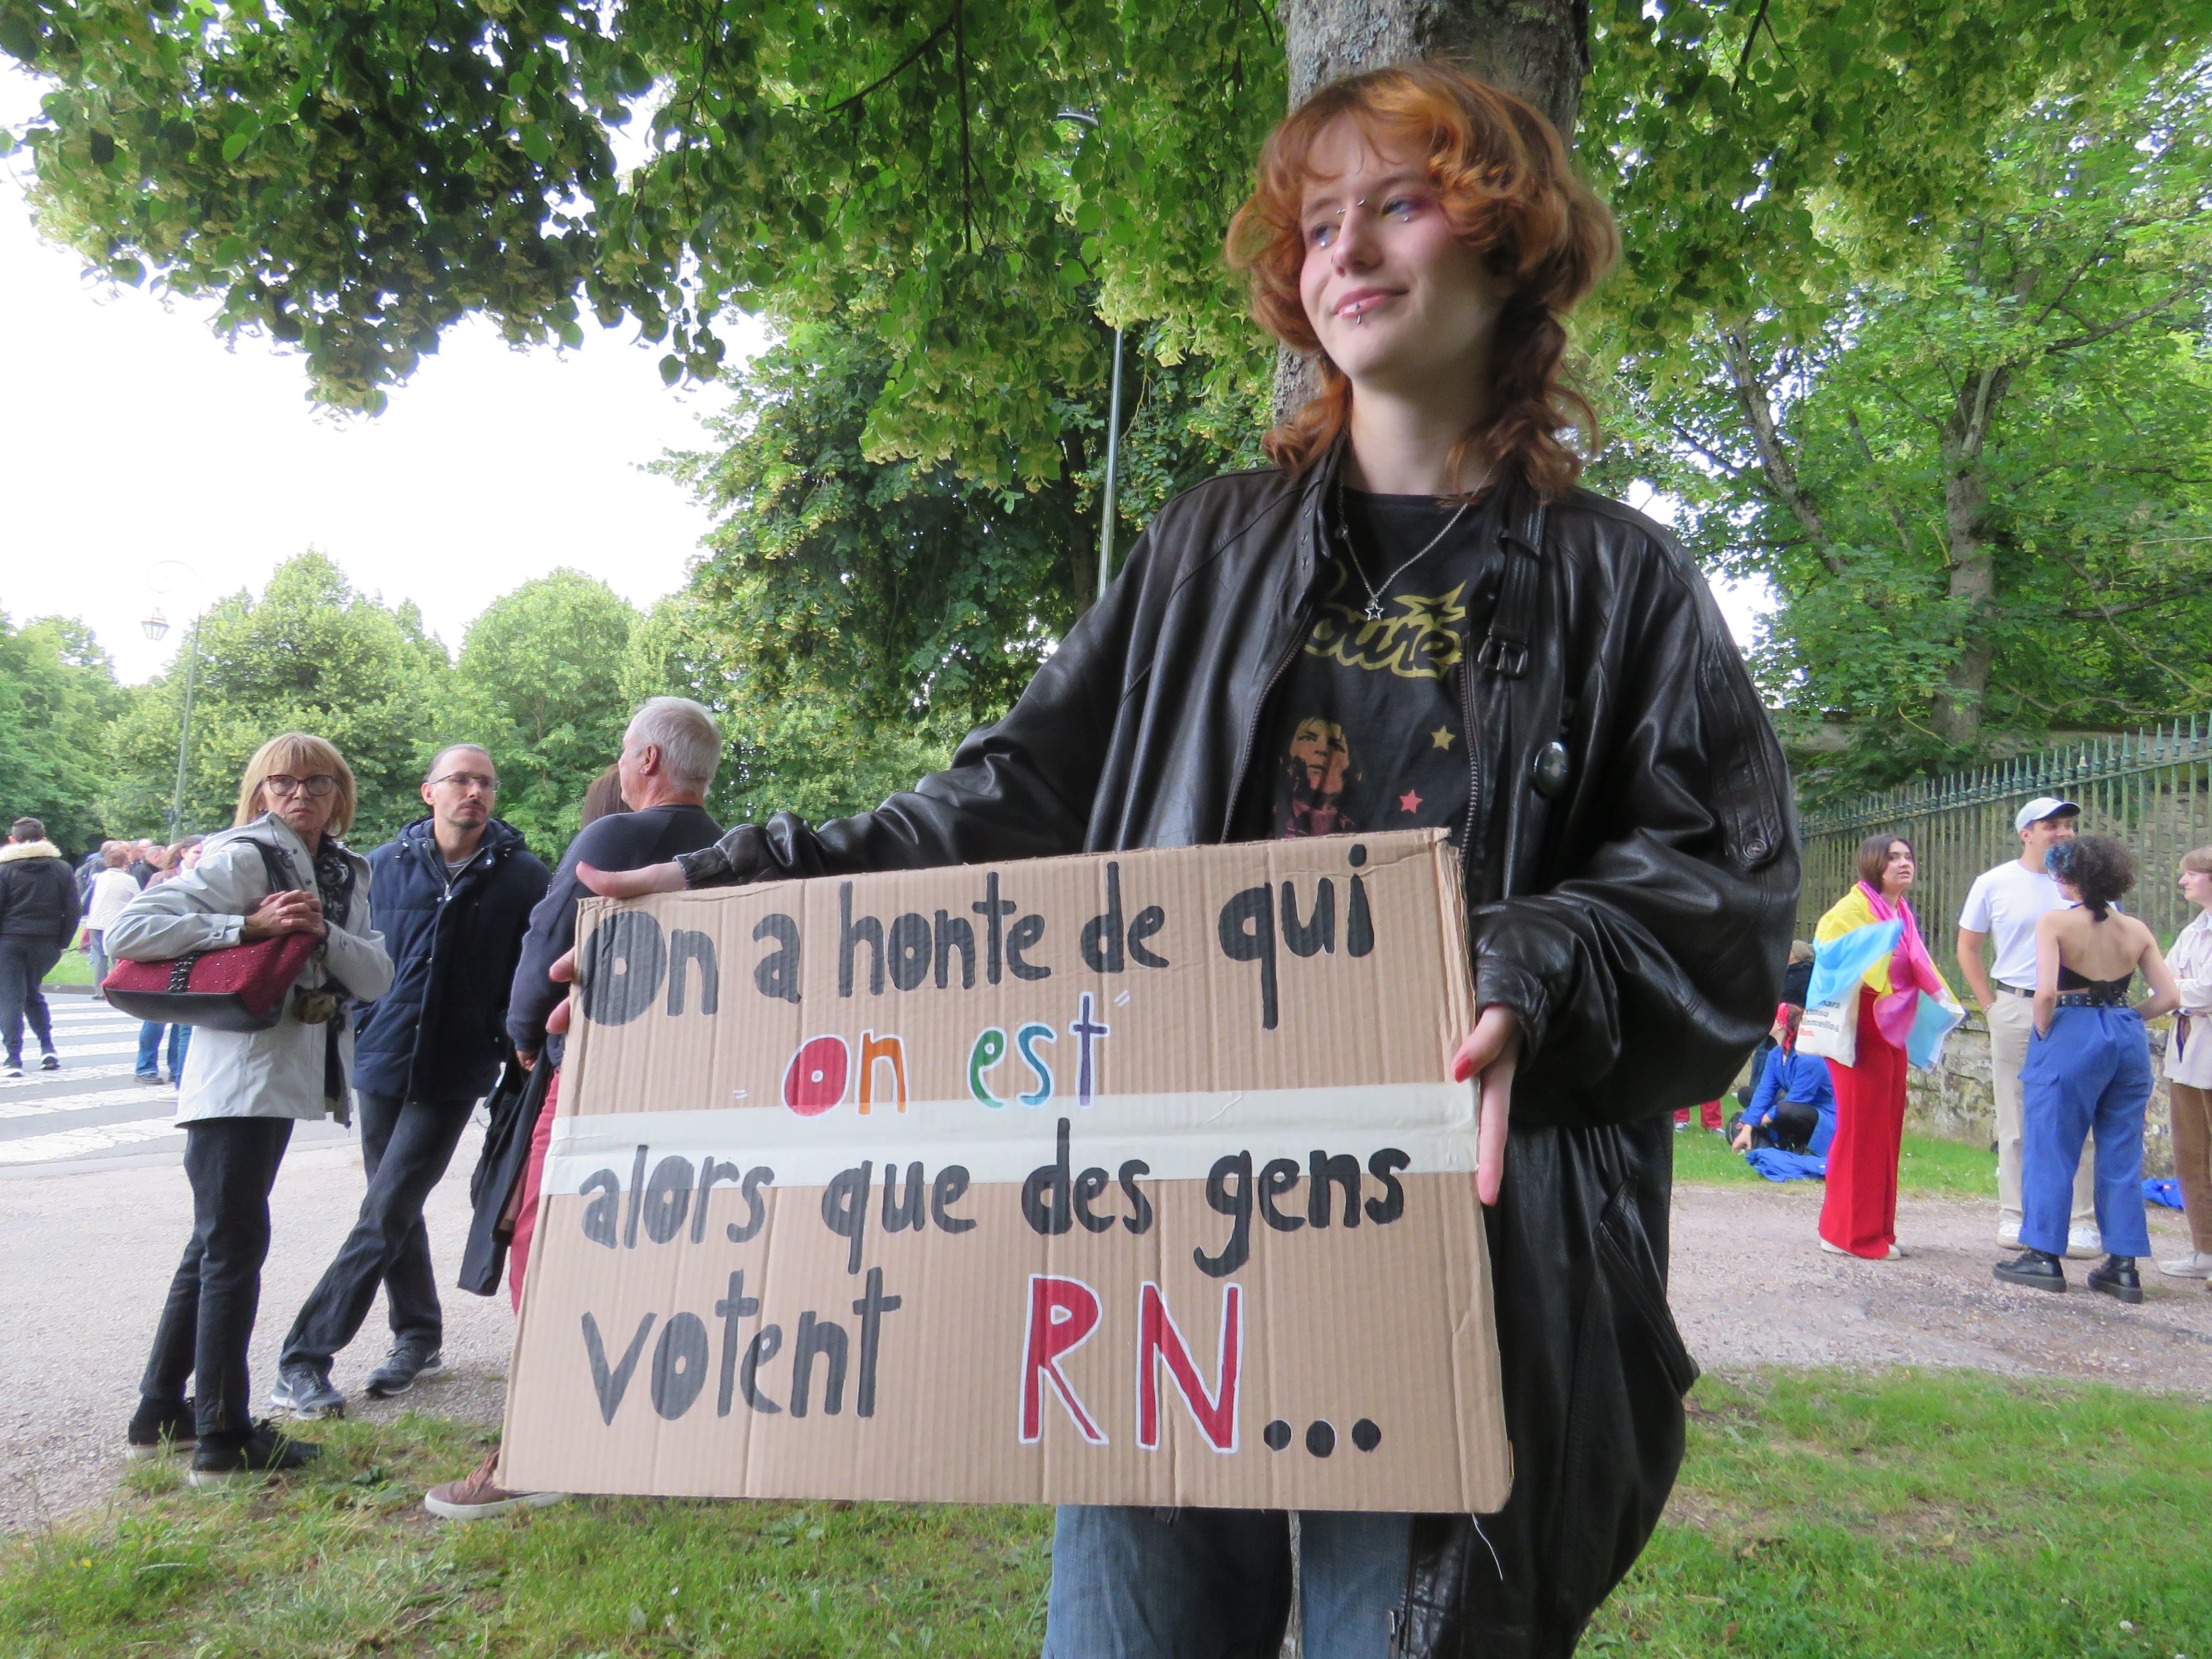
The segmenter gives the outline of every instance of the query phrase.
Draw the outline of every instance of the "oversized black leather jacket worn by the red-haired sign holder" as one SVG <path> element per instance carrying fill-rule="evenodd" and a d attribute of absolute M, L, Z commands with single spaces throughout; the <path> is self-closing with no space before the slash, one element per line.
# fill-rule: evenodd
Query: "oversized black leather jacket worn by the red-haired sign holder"
<path fill-rule="evenodd" d="M 1177 498 L 949 770 L 821 827 L 732 830 L 686 878 L 1225 841 L 1316 604 L 1336 465 Z M 1772 1022 L 1798 858 L 1781 748 L 1683 551 L 1588 493 L 1513 487 L 1498 524 L 1458 681 L 1475 995 L 1524 1029 L 1489 1212 L 1515 1486 L 1480 1535 L 1416 1522 L 1396 1650 L 1546 1659 L 1573 1652 L 1681 1462 L 1697 1367 L 1666 1307 L 1666 1113 L 1719 1097 Z"/>

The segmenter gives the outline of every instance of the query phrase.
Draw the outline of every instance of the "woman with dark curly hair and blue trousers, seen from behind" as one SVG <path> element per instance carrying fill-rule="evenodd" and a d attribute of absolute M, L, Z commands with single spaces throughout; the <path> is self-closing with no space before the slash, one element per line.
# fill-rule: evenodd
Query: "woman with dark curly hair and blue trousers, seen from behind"
<path fill-rule="evenodd" d="M 2066 1290 L 2066 1228 L 2081 1141 L 2097 1141 L 2097 1230 L 2104 1265 L 2088 1287 L 2124 1303 L 2143 1301 L 2137 1256 L 2150 1254 L 2143 1225 L 2143 1108 L 2150 1104 L 2150 1040 L 2143 1020 L 2181 1004 L 2157 936 L 2112 909 L 2135 887 L 2135 858 L 2110 836 L 2062 841 L 2048 854 L 2064 909 L 2035 922 L 2035 1035 L 2020 1068 L 2022 1168 L 2020 1243 L 1997 1279 Z M 2137 971 L 2150 998 L 2128 1004 Z"/>

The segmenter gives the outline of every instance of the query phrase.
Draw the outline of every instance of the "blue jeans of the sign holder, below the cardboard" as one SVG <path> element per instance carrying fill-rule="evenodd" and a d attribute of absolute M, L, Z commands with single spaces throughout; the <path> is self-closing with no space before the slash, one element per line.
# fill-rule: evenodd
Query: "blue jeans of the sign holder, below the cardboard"
<path fill-rule="evenodd" d="M 1303 1511 L 1298 1615 L 1312 1659 L 1387 1659 L 1409 1515 Z M 1279 1509 L 1062 1504 L 1044 1659 L 1274 1659 L 1290 1619 Z"/>

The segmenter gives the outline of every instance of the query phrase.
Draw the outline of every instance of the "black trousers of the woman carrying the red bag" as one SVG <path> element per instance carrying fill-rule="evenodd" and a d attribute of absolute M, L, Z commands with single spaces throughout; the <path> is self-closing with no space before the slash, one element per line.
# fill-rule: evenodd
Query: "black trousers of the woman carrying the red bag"
<path fill-rule="evenodd" d="M 270 1254 L 270 1188 L 290 1144 L 290 1117 L 210 1117 L 184 1126 L 192 1243 L 168 1281 L 139 1394 L 181 1400 L 192 1378 L 199 1433 L 252 1422 L 246 1345 Z"/>

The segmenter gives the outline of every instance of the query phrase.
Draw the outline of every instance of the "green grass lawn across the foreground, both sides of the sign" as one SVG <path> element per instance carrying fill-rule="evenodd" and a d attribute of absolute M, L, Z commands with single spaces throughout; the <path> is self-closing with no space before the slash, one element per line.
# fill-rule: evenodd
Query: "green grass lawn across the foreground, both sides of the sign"
<path fill-rule="evenodd" d="M 1033 1509 L 591 1500 L 447 1528 L 476 1431 L 316 1425 L 323 1473 L 181 1491 L 0 1562 L 15 1659 L 1033 1655 Z M 1969 1371 L 1708 1378 L 1644 1562 L 1584 1652 L 2212 1655 L 2212 1407 Z"/>

